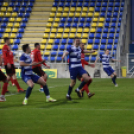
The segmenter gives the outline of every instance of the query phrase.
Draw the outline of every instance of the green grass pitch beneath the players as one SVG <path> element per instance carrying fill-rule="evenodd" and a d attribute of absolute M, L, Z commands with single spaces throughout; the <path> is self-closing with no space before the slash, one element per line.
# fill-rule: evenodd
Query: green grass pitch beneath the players
<path fill-rule="evenodd" d="M 85 93 L 79 99 L 73 90 L 72 102 L 65 99 L 69 82 L 48 80 L 56 103 L 46 103 L 38 85 L 27 106 L 22 105 L 25 94 L 7 96 L 0 103 L 0 134 L 134 134 L 133 79 L 118 79 L 117 88 L 110 79 L 94 79 L 90 89 L 95 96 L 88 99 Z M 21 80 L 19 83 L 27 88 Z M 12 86 L 9 90 L 16 92 Z"/>

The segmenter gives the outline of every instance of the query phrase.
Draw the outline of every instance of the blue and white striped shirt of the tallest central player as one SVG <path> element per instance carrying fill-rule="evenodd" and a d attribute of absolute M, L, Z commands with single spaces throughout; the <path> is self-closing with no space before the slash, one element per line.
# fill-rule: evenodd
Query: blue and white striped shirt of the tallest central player
<path fill-rule="evenodd" d="M 69 69 L 82 67 L 81 64 L 81 48 L 72 45 L 67 52 L 69 52 Z"/>

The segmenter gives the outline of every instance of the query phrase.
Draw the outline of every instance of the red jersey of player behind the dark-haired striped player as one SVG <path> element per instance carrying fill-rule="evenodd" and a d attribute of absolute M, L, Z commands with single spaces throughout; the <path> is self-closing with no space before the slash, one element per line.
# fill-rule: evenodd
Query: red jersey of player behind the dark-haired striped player
<path fill-rule="evenodd" d="M 42 59 L 42 57 L 41 57 L 40 50 L 38 50 L 38 49 L 34 49 L 34 50 L 31 52 L 31 58 L 32 58 L 32 61 L 33 61 L 33 62 L 41 62 L 41 61 L 43 61 L 43 59 Z M 46 66 L 45 63 L 43 63 L 43 64 Z M 32 66 L 32 68 L 40 67 L 40 66 L 41 66 L 41 64 Z"/>

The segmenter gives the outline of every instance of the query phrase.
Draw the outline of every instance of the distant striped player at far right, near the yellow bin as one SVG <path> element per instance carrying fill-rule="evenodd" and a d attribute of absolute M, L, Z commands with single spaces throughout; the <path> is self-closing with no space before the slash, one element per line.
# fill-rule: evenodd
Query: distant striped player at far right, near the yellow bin
<path fill-rule="evenodd" d="M 105 53 L 102 54 L 100 57 L 98 57 L 95 61 L 95 64 L 96 62 L 101 59 L 102 60 L 102 65 L 103 65 L 103 70 L 107 73 L 108 76 L 110 76 L 112 78 L 112 82 L 114 83 L 115 87 L 118 86 L 118 84 L 116 84 L 116 77 L 117 77 L 117 74 L 116 72 L 113 70 L 113 68 L 110 66 L 109 64 L 109 61 L 112 60 L 112 61 L 117 61 L 117 62 L 120 62 L 120 60 L 116 60 L 116 59 L 113 59 L 110 55 L 109 55 L 109 50 L 105 50 Z"/>

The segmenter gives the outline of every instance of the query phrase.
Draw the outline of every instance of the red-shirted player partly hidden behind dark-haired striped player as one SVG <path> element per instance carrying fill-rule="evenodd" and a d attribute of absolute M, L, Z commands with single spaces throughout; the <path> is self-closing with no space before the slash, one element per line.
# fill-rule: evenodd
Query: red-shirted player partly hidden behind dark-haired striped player
<path fill-rule="evenodd" d="M 31 52 L 32 61 L 33 62 L 43 61 L 41 52 L 40 52 L 40 44 L 35 43 L 34 47 L 35 47 L 35 49 Z M 47 68 L 50 68 L 50 66 L 48 66 L 46 63 L 43 63 L 43 65 L 45 65 Z M 32 66 L 32 69 L 33 69 L 33 72 L 35 72 L 38 76 L 42 77 L 44 79 L 44 81 L 47 81 L 47 74 L 42 70 L 41 64 Z M 44 92 L 42 86 L 39 91 Z"/>

